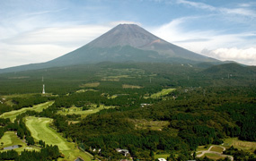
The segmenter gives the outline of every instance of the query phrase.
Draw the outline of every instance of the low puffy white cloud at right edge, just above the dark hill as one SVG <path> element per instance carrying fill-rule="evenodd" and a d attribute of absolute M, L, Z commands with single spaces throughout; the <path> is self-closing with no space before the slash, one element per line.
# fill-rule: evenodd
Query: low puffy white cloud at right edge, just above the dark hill
<path fill-rule="evenodd" d="M 256 65 L 256 47 L 251 48 L 218 48 L 216 50 L 204 49 L 202 54 L 216 57 L 222 61 L 233 60 L 241 64 Z"/>

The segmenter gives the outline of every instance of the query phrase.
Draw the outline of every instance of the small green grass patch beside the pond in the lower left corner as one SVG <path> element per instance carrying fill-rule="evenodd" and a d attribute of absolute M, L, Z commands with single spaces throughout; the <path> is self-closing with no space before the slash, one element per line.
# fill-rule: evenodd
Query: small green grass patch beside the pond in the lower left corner
<path fill-rule="evenodd" d="M 16 151 L 22 152 L 24 149 L 26 150 L 39 150 L 40 148 L 37 147 L 29 147 L 25 142 L 20 140 L 14 131 L 6 131 L 4 132 L 4 136 L 0 139 L 0 143 L 4 143 L 3 146 L 1 145 L 1 149 L 5 147 L 10 147 L 14 145 L 21 145 L 21 148 L 15 148 Z M 6 151 L 6 150 L 1 150 Z"/>

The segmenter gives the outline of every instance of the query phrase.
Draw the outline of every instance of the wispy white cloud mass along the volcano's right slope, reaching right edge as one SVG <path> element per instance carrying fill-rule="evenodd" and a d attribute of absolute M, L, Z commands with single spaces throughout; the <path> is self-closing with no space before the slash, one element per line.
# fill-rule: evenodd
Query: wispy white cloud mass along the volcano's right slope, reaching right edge
<path fill-rule="evenodd" d="M 151 31 L 168 42 L 201 55 L 256 65 L 256 45 L 252 39 L 256 36 L 254 32 L 223 34 L 216 30 L 186 30 L 185 23 L 196 18 L 175 19 Z"/>

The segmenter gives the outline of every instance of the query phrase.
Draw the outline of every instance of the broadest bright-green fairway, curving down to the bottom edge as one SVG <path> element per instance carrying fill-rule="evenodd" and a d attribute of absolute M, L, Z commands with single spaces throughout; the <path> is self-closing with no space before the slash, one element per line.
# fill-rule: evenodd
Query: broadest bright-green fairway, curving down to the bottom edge
<path fill-rule="evenodd" d="M 57 131 L 49 127 L 52 119 L 44 117 L 27 117 L 26 125 L 31 131 L 31 136 L 35 140 L 44 140 L 46 144 L 57 145 L 65 158 L 59 160 L 75 160 L 77 157 L 82 157 L 84 160 L 91 160 L 91 157 L 75 147 L 75 143 L 67 142 Z"/>

